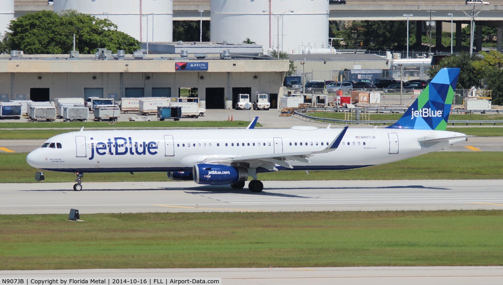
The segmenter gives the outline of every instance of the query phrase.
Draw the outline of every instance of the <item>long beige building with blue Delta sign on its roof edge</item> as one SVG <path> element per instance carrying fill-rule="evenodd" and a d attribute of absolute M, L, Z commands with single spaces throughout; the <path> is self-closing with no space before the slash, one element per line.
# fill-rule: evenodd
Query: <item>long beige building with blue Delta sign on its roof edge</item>
<path fill-rule="evenodd" d="M 222 54 L 0 56 L 0 100 L 190 96 L 224 109 L 237 94 L 269 93 L 277 108 L 288 60 Z M 184 93 L 185 92 L 185 93 Z"/>

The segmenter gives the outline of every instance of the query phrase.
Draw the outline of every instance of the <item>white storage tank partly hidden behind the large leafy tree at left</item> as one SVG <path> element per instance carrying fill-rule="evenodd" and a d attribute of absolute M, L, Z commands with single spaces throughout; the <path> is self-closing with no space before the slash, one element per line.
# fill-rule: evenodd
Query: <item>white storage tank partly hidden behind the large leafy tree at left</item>
<path fill-rule="evenodd" d="M 173 41 L 173 0 L 54 0 L 54 12 L 69 9 L 109 19 L 141 42 L 147 41 L 147 26 L 149 42 Z"/>

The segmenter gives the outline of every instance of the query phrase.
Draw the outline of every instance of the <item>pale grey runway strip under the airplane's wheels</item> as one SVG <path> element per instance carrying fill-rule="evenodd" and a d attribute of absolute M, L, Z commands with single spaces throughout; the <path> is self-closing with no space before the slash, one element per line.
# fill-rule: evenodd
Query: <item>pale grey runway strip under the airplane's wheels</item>
<path fill-rule="evenodd" d="M 3 183 L 0 214 L 503 210 L 503 180 L 263 181 L 252 193 L 181 182 Z"/>

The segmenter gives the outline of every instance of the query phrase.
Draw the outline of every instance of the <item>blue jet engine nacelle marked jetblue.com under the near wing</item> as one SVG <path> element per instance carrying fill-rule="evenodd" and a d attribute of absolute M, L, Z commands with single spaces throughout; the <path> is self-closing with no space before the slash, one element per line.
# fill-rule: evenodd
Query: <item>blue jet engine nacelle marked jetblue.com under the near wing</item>
<path fill-rule="evenodd" d="M 230 165 L 200 163 L 192 168 L 198 184 L 232 184 L 248 179 L 248 170 Z"/>

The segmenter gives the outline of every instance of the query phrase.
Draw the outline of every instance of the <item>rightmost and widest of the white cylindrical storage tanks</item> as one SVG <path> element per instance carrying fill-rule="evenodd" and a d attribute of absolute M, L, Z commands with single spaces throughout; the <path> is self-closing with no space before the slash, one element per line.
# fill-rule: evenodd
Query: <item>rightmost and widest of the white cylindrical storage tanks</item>
<path fill-rule="evenodd" d="M 326 47 L 328 12 L 327 0 L 272 1 L 271 10 L 269 0 L 211 0 L 211 41 L 242 43 L 249 38 L 267 51 L 269 37 L 272 48 L 276 49 L 279 34 L 279 48 L 288 53 L 299 53 L 301 44 Z"/>

